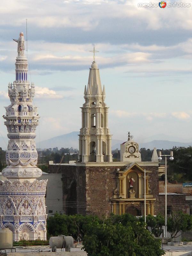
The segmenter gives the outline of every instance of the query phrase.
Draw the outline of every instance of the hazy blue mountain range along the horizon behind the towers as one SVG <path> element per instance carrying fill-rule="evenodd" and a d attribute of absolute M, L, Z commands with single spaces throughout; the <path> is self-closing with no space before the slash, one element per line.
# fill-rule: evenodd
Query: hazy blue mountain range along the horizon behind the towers
<path fill-rule="evenodd" d="M 78 134 L 79 132 L 70 132 L 67 134 L 63 134 L 57 137 L 53 137 L 48 140 L 43 140 L 39 142 L 36 142 L 37 148 L 79 148 L 78 144 Z M 154 138 L 155 136 L 153 136 Z M 157 138 L 159 138 L 160 135 L 157 135 Z M 152 139 L 152 137 L 148 138 L 149 140 Z M 146 140 L 145 140 L 146 141 Z M 124 142 L 123 140 L 117 140 L 112 139 L 112 149 L 120 149 L 120 144 Z M 8 139 L 0 137 L 0 147 L 3 149 L 7 148 Z M 164 148 L 164 149 L 170 149 L 174 146 L 176 147 L 188 147 L 192 146 L 192 142 L 178 142 L 178 141 L 169 141 L 169 140 L 152 140 L 150 142 L 143 142 L 139 143 L 140 148 L 150 148 L 153 149 L 156 148 Z"/>

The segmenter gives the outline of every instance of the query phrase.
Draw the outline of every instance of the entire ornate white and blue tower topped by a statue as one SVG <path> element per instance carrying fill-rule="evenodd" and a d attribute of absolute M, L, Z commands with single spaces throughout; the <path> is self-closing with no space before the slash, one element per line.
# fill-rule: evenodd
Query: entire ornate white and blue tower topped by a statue
<path fill-rule="evenodd" d="M 15 241 L 46 240 L 45 193 L 47 180 L 37 168 L 34 139 L 39 115 L 33 105 L 35 86 L 29 84 L 28 60 L 24 54 L 24 36 L 20 33 L 16 58 L 16 80 L 8 85 L 11 104 L 6 109 L 4 124 L 8 130 L 7 167 L 0 180 L 0 228 L 9 228 Z"/>

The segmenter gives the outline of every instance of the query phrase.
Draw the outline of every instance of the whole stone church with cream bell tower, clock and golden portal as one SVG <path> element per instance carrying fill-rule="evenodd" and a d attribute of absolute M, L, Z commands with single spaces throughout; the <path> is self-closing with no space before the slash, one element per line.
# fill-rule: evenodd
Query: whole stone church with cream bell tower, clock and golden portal
<path fill-rule="evenodd" d="M 105 87 L 101 87 L 99 68 L 92 62 L 88 85 L 84 89 L 82 127 L 79 133 L 79 161 L 76 164 L 50 164 L 51 173 L 63 179 L 63 205 L 66 214 L 111 212 L 144 214 L 144 170 L 146 170 L 147 214 L 156 213 L 158 203 L 158 156 L 142 162 L 139 145 L 130 133 L 121 144 L 121 161 L 112 162 Z"/>

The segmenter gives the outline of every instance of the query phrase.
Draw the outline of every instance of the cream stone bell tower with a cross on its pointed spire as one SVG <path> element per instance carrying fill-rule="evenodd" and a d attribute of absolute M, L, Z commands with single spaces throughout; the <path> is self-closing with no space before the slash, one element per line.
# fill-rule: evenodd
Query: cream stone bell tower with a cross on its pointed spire
<path fill-rule="evenodd" d="M 93 50 L 95 53 L 95 49 Z M 111 134 L 108 128 L 108 107 L 105 86 L 101 87 L 99 68 L 95 60 L 84 89 L 82 128 L 79 134 L 80 162 L 112 162 Z"/>

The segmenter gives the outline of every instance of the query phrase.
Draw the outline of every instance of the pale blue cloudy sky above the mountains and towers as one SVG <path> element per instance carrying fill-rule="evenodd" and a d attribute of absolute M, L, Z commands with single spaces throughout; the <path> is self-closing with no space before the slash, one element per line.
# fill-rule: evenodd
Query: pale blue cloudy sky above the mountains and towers
<path fill-rule="evenodd" d="M 164 9 L 138 7 L 146 0 L 1 1 L 1 116 L 15 78 L 12 38 L 26 34 L 27 18 L 28 78 L 41 116 L 37 140 L 79 130 L 93 44 L 114 139 L 130 131 L 140 142 L 192 140 L 192 2 L 186 1 L 191 7 Z"/>

